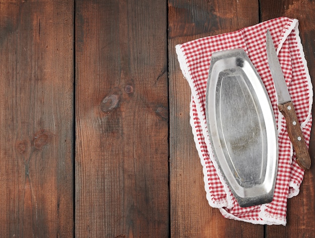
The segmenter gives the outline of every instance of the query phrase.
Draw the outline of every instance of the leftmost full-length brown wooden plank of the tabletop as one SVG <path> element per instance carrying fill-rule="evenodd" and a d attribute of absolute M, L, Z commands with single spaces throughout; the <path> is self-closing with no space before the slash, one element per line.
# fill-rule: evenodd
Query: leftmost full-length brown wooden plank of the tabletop
<path fill-rule="evenodd" d="M 73 1 L 0 3 L 0 237 L 73 236 Z"/>

